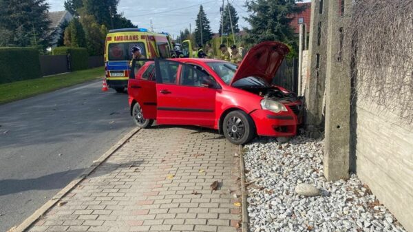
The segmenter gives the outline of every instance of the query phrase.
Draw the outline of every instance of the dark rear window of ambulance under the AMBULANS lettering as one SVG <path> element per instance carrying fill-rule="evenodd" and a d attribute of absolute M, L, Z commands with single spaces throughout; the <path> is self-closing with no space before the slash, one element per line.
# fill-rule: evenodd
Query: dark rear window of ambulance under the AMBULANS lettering
<path fill-rule="evenodd" d="M 146 57 L 145 43 L 109 43 L 107 52 L 109 61 L 130 61 L 132 59 L 131 48 L 134 46 L 138 46 L 142 55 Z"/>

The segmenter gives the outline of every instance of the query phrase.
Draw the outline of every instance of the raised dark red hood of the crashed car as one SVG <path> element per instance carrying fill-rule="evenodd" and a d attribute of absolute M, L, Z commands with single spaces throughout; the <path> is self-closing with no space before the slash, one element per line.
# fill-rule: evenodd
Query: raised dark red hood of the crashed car
<path fill-rule="evenodd" d="M 255 45 L 246 54 L 235 72 L 231 85 L 248 76 L 257 76 L 271 84 L 279 65 L 290 49 L 284 44 L 275 41 L 266 41 Z"/>

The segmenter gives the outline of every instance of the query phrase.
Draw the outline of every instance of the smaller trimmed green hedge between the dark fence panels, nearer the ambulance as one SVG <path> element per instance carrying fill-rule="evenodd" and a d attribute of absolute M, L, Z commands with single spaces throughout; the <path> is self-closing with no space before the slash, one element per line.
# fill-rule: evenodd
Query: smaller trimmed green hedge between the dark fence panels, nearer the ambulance
<path fill-rule="evenodd" d="M 65 55 L 70 54 L 70 65 L 71 71 L 86 70 L 87 69 L 87 58 L 89 54 L 86 48 L 54 48 L 53 55 Z"/>

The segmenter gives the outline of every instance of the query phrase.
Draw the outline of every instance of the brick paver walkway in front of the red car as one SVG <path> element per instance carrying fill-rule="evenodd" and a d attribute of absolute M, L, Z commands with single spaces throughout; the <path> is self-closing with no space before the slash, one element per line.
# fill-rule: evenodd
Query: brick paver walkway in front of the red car
<path fill-rule="evenodd" d="M 29 231 L 236 231 L 236 150 L 200 128 L 141 130 Z"/>

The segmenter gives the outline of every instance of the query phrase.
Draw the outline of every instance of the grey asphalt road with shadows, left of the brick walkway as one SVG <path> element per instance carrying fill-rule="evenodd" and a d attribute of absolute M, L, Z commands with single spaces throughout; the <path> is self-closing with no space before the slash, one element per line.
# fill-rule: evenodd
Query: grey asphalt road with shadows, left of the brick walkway
<path fill-rule="evenodd" d="M 23 222 L 134 127 L 127 94 L 89 82 L 0 105 L 0 231 Z"/>

